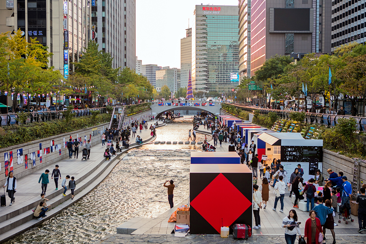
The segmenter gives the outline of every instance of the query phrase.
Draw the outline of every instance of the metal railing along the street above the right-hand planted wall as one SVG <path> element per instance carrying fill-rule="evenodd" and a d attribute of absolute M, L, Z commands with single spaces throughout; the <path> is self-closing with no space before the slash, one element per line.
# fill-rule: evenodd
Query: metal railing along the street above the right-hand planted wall
<path fill-rule="evenodd" d="M 233 105 L 238 108 L 242 108 L 244 111 L 249 113 L 254 113 L 255 110 L 259 110 L 259 114 L 261 115 L 268 115 L 269 112 L 275 112 L 277 116 L 283 119 L 290 119 L 290 114 L 296 111 L 291 110 L 277 110 L 277 109 L 268 109 L 268 108 L 258 108 L 255 106 L 247 106 L 242 104 L 231 104 L 227 103 L 228 105 Z M 325 125 L 328 127 L 334 127 L 337 124 L 337 120 L 340 118 L 353 118 L 356 120 L 356 131 L 366 131 L 366 117 L 356 117 L 356 116 L 347 116 L 347 115 L 329 115 L 329 114 L 322 114 L 322 113 L 308 113 L 305 112 L 305 119 L 304 123 L 309 124 L 318 124 L 318 125 Z"/>

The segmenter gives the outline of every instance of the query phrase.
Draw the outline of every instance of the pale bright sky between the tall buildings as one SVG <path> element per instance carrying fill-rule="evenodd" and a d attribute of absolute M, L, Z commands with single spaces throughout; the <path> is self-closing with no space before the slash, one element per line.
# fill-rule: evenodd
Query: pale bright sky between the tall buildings
<path fill-rule="evenodd" d="M 136 56 L 142 64 L 180 68 L 180 39 L 201 3 L 238 6 L 238 0 L 136 0 Z"/>

